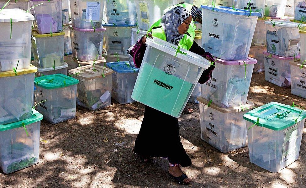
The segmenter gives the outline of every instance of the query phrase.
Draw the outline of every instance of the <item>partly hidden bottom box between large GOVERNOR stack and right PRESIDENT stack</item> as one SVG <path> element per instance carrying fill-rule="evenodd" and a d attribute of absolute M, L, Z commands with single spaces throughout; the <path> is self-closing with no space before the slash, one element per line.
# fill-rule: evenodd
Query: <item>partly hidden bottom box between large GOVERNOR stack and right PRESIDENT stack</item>
<path fill-rule="evenodd" d="M 257 63 L 254 65 L 253 73 L 265 71 L 265 55 L 263 55 L 263 52 L 266 52 L 266 50 L 266 45 L 251 46 L 249 57 L 257 60 Z"/>

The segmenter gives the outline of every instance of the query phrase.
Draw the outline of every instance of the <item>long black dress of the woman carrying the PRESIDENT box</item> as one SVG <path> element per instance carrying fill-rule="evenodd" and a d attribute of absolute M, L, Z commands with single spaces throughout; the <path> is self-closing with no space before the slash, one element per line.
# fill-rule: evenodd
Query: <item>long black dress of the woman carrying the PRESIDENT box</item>
<path fill-rule="evenodd" d="M 189 51 L 198 55 L 205 53 L 196 42 L 193 42 Z M 203 84 L 208 81 L 212 70 L 214 66 L 205 70 L 198 82 Z M 169 163 L 182 167 L 191 165 L 191 159 L 181 143 L 177 118 L 148 106 L 145 106 L 144 118 L 135 141 L 135 153 L 142 157 L 165 157 Z"/>

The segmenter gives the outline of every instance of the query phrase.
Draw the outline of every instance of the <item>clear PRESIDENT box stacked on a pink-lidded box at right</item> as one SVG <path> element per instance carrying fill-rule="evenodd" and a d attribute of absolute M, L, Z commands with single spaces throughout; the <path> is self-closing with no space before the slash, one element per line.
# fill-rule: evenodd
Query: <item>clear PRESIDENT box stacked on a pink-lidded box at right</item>
<path fill-rule="evenodd" d="M 305 24 L 277 20 L 266 21 L 267 52 L 282 57 L 298 55 L 300 34 L 298 27 Z"/>

